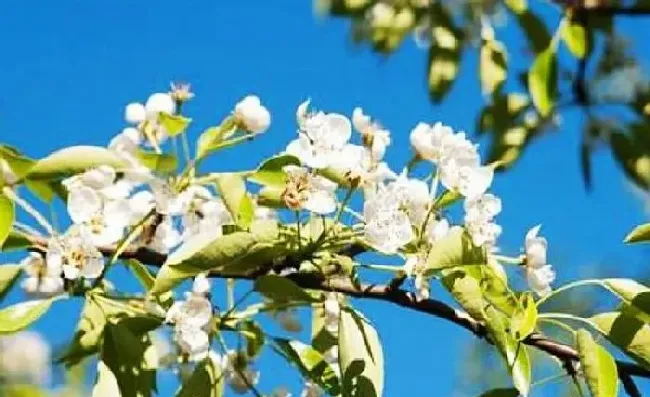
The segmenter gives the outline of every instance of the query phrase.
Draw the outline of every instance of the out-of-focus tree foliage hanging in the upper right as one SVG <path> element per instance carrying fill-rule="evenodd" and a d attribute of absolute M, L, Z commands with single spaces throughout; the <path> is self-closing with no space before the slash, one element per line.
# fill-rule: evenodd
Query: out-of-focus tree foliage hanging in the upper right
<path fill-rule="evenodd" d="M 434 103 L 448 99 L 463 59 L 476 51 L 478 76 L 468 77 L 478 77 L 485 106 L 476 115 L 475 132 L 489 136 L 488 158 L 498 162 L 497 169 L 510 167 L 532 142 L 556 131 L 567 111 L 579 110 L 585 186 L 592 184 L 592 154 L 609 148 L 630 181 L 650 187 L 650 84 L 640 59 L 645 54 L 632 51 L 617 23 L 647 24 L 647 2 L 315 3 L 326 14 L 349 19 L 353 39 L 379 54 L 397 51 L 413 36 L 428 51 L 425 81 Z"/>

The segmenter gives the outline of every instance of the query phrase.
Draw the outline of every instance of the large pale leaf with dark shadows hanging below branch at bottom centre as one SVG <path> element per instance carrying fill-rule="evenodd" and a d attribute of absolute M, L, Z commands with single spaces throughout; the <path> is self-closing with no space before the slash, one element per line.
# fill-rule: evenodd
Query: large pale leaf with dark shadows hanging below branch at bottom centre
<path fill-rule="evenodd" d="M 381 397 L 384 356 L 379 335 L 351 309 L 341 310 L 339 317 L 339 364 L 344 397 Z"/>

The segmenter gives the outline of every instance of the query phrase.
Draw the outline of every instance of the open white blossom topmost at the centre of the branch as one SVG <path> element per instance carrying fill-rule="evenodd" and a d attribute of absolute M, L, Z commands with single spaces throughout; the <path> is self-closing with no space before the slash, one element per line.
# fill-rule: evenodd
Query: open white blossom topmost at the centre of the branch
<path fill-rule="evenodd" d="M 341 114 L 323 112 L 304 117 L 298 139 L 289 143 L 286 152 L 298 157 L 308 167 L 327 168 L 337 161 L 337 156 L 350 140 L 350 120 Z"/>

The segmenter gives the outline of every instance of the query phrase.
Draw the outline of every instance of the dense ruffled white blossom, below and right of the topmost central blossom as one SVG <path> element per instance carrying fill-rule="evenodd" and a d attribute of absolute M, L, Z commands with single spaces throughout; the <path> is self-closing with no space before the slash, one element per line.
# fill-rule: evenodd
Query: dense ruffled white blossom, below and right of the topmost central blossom
<path fill-rule="evenodd" d="M 414 237 L 409 216 L 401 208 L 401 198 L 396 189 L 379 185 L 363 206 L 365 238 L 385 254 L 396 253 Z"/>

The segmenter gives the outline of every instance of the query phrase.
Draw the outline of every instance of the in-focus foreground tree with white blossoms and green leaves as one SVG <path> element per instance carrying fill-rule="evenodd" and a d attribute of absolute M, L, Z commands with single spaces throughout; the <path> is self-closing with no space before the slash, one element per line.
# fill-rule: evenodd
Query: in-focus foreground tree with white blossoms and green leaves
<path fill-rule="evenodd" d="M 23 330 L 58 302 L 81 299 L 77 330 L 56 360 L 74 368 L 96 357 L 94 397 L 150 396 L 164 370 L 178 373 L 177 396 L 221 396 L 226 386 L 289 396 L 258 390 L 263 349 L 299 371 L 301 396 L 379 397 L 380 330 L 354 308 L 351 298 L 359 298 L 440 318 L 493 345 L 512 386 L 484 396 L 528 395 L 533 349 L 553 357 L 580 390 L 615 396 L 620 384 L 640 395 L 633 378 L 650 377 L 650 289 L 597 279 L 553 290 L 540 226 L 523 237 L 523 254 L 501 253 L 501 200 L 489 192 L 494 164 L 481 161 L 464 133 L 419 123 L 410 134 L 413 159 L 389 166 L 390 133 L 361 108 L 350 120 L 312 111 L 306 101 L 283 153 L 254 170 L 199 173 L 213 153 L 264 139 L 271 116 L 248 96 L 192 147 L 185 133 L 192 120 L 182 113 L 192 96 L 178 84 L 127 105 L 129 126 L 108 147 L 68 147 L 38 160 L 0 147 L 0 245 L 25 252 L 19 264 L 0 266 L 0 297 L 12 288 L 32 297 L 0 309 L 0 334 L 13 334 L 2 339 L 3 393 L 36 395 L 28 384 L 37 377 L 6 376 L 20 372 L 15 363 L 24 355 L 29 374 L 47 361 L 47 346 L 39 349 L 42 342 Z M 70 226 L 57 230 L 27 197 L 62 200 Z M 650 239 L 649 229 L 639 227 L 628 241 Z M 368 263 L 377 255 L 394 265 Z M 119 263 L 141 293 L 111 278 Z M 390 279 L 371 284 L 369 272 Z M 509 286 L 513 272 L 525 275 L 526 290 Z M 227 307 L 213 304 L 213 278 L 227 280 Z M 239 298 L 236 282 L 249 288 Z M 457 307 L 433 297 L 432 283 Z M 620 307 L 589 318 L 544 310 L 555 295 L 584 285 L 611 292 Z M 310 340 L 291 335 L 302 328 L 298 308 L 311 310 Z M 268 333 L 263 313 L 286 335 Z M 563 336 L 546 336 L 548 326 Z M 166 354 L 154 348 L 161 329 L 172 330 Z M 615 360 L 594 334 L 628 358 Z M 241 343 L 229 344 L 232 337 Z"/>

